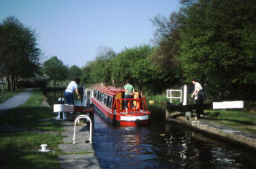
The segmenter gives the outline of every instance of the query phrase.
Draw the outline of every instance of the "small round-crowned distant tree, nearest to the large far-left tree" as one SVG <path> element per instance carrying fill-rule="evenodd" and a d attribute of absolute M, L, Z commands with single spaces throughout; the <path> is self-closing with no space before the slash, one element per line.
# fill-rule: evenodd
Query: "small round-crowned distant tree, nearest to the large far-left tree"
<path fill-rule="evenodd" d="M 43 63 L 43 71 L 50 80 L 53 80 L 54 87 L 56 87 L 56 82 L 67 79 L 67 66 L 64 66 L 57 56 L 53 56 Z"/>

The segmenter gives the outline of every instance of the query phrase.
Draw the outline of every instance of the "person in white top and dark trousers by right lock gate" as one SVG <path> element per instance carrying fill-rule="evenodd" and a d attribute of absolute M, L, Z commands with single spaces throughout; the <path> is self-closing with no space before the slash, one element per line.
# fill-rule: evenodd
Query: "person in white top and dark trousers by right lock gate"
<path fill-rule="evenodd" d="M 195 84 L 195 90 L 191 98 L 195 98 L 195 104 L 202 105 L 203 101 L 206 101 L 206 94 L 204 93 L 203 87 L 197 82 L 197 79 L 192 79 L 192 83 Z M 200 118 L 200 114 L 203 114 L 203 109 L 197 109 L 197 118 Z"/>

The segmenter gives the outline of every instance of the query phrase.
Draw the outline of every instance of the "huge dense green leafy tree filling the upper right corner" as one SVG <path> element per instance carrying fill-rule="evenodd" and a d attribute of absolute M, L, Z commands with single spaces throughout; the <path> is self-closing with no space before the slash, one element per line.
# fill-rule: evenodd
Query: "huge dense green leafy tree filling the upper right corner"
<path fill-rule="evenodd" d="M 256 1 L 185 1 L 181 11 L 177 58 L 187 82 L 197 77 L 212 95 L 252 98 L 256 84 Z"/>

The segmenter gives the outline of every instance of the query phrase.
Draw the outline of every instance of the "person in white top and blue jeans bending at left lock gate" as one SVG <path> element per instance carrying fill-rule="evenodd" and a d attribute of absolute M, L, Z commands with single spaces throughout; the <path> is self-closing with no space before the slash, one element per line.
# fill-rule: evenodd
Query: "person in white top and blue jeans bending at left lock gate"
<path fill-rule="evenodd" d="M 74 96 L 73 92 L 75 90 L 75 93 L 78 95 L 78 99 L 80 99 L 80 95 L 78 92 L 78 84 L 80 82 L 79 78 L 75 78 L 71 82 L 69 82 L 69 85 L 67 86 L 67 89 L 64 92 L 65 95 L 65 103 L 74 105 Z"/>

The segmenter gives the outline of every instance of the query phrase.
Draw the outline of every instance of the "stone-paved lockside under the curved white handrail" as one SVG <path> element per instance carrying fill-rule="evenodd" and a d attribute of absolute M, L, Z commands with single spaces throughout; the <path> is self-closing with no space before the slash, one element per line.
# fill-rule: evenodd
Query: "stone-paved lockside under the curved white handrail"
<path fill-rule="evenodd" d="M 96 169 L 100 168 L 94 148 L 91 144 L 86 144 L 89 140 L 89 129 L 86 124 L 76 126 L 75 142 L 72 144 L 74 122 L 64 121 L 64 132 L 61 133 L 64 144 L 59 145 L 59 149 L 66 153 L 59 155 L 59 162 L 62 169 Z"/>

